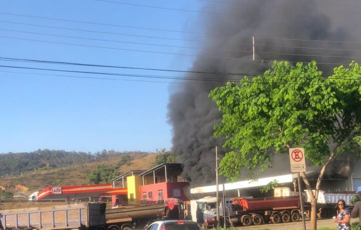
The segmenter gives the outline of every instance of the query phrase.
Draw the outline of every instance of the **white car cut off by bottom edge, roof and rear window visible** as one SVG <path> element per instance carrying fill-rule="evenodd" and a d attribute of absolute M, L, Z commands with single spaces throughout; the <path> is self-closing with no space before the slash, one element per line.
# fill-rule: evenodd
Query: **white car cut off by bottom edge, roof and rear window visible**
<path fill-rule="evenodd" d="M 146 230 L 201 230 L 201 227 L 192 220 L 168 219 L 152 222 Z"/>

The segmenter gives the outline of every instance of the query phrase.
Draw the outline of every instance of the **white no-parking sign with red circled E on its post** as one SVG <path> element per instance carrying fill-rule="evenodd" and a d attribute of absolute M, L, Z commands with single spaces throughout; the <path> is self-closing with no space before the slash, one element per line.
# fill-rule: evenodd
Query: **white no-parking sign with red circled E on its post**
<path fill-rule="evenodd" d="M 298 190 L 300 194 L 300 202 L 301 202 L 301 215 L 303 221 L 304 230 L 306 230 L 306 222 L 305 222 L 305 211 L 304 211 L 304 203 L 302 200 L 301 194 L 301 179 L 300 172 L 306 171 L 306 161 L 305 161 L 305 150 L 303 147 L 301 148 L 290 148 L 290 165 L 291 172 L 297 172 L 297 181 L 298 181 Z"/>

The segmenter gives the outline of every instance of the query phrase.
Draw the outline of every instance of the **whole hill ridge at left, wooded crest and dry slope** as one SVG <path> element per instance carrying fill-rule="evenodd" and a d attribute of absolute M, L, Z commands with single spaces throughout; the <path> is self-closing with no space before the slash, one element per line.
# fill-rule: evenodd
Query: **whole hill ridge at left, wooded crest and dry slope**
<path fill-rule="evenodd" d="M 33 152 L 0 154 L 0 185 L 22 184 L 28 192 L 48 186 L 88 184 L 87 175 L 98 165 L 116 165 L 124 156 L 129 162 L 121 165 L 120 173 L 149 169 L 156 164 L 156 153 L 129 151 L 85 153 L 39 149 Z"/>

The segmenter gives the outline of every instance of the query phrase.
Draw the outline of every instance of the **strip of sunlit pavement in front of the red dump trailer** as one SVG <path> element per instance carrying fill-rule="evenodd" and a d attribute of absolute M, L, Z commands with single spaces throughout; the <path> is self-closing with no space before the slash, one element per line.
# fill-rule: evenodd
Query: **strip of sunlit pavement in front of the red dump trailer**
<path fill-rule="evenodd" d="M 336 223 L 333 221 L 333 219 L 318 219 L 317 220 L 317 228 L 319 227 L 334 227 L 336 226 Z M 293 230 L 302 230 L 303 229 L 303 223 L 302 221 L 298 222 L 290 222 L 290 223 L 267 223 L 262 224 L 258 226 L 240 226 L 236 227 L 236 229 L 244 230 L 244 229 L 293 229 Z M 306 229 L 310 229 L 310 220 L 306 220 Z"/>

